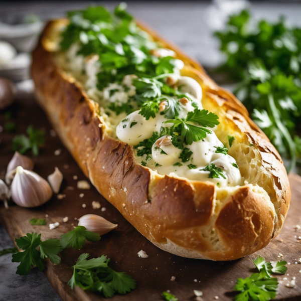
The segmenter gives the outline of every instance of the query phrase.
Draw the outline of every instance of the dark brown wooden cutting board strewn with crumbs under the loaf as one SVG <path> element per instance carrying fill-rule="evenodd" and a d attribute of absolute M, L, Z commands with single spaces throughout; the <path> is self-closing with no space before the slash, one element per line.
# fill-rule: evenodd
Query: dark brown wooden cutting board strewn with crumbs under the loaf
<path fill-rule="evenodd" d="M 0 206 L 0 222 L 5 226 L 12 240 L 25 235 L 28 232 L 42 233 L 42 240 L 58 238 L 61 234 L 70 231 L 73 225 L 77 225 L 75 218 L 84 214 L 94 213 L 103 216 L 109 221 L 118 224 L 112 232 L 102 236 L 97 243 L 87 242 L 81 250 L 66 249 L 61 253 L 62 263 L 54 265 L 47 261 L 45 274 L 54 288 L 64 301 L 76 300 L 103 300 L 99 294 L 90 291 L 75 289 L 67 285 L 71 278 L 72 270 L 78 256 L 84 252 L 90 253 L 91 257 L 98 257 L 102 254 L 111 258 L 110 266 L 117 271 L 125 271 L 137 280 L 137 289 L 126 295 L 115 295 L 112 301 L 141 301 L 141 300 L 162 300 L 161 294 L 170 290 L 179 300 L 195 300 L 194 289 L 203 291 L 204 300 L 233 299 L 232 288 L 238 277 L 247 277 L 255 272 L 252 259 L 258 255 L 268 261 L 279 260 L 279 253 L 283 259 L 290 263 L 286 275 L 278 276 L 279 292 L 276 299 L 301 300 L 301 231 L 295 229 L 295 225 L 301 225 L 301 178 L 294 174 L 290 175 L 292 189 L 292 200 L 290 210 L 286 217 L 283 229 L 280 234 L 264 249 L 253 255 L 242 259 L 215 262 L 209 260 L 198 260 L 183 258 L 172 255 L 150 243 L 138 231 L 136 231 L 122 215 L 107 202 L 95 188 L 79 190 L 76 188 L 78 180 L 85 180 L 85 176 L 72 159 L 68 150 L 64 148 L 57 136 L 51 135 L 51 124 L 47 121 L 44 112 L 32 100 L 16 102 L 10 108 L 13 117 L 9 121 L 16 121 L 17 130 L 15 133 L 0 133 L 0 175 L 5 176 L 5 170 L 13 156 L 12 139 L 16 134 L 25 133 L 28 125 L 44 128 L 46 130 L 46 144 L 41 148 L 39 157 L 33 158 L 35 162 L 34 171 L 46 178 L 58 167 L 64 175 L 61 187 L 61 194 L 66 195 L 59 200 L 56 196 L 43 206 L 35 209 L 25 209 L 10 204 L 9 210 L 3 205 Z M 0 125 L 7 122 L 4 113 L 0 113 Z M 59 156 L 54 152 L 61 149 Z M 29 155 L 31 155 L 29 153 Z M 70 189 L 73 188 L 73 190 Z M 84 194 L 84 196 L 80 196 Z M 101 209 L 93 209 L 92 201 L 98 201 Z M 83 208 L 83 204 L 86 207 Z M 47 225 L 32 226 L 29 223 L 31 218 L 45 218 Z M 69 221 L 64 223 L 63 218 L 68 216 Z M 60 226 L 49 230 L 49 223 L 59 222 Z M 137 252 L 144 250 L 148 258 L 139 258 Z M 301 259 L 300 259 L 301 260 Z M 295 264 L 295 262 L 298 262 Z M 176 280 L 171 281 L 175 276 Z M 296 286 L 288 288 L 285 286 L 292 277 L 296 277 Z M 21 276 L 20 276 L 21 277 Z M 285 277 L 287 280 L 285 280 Z"/>

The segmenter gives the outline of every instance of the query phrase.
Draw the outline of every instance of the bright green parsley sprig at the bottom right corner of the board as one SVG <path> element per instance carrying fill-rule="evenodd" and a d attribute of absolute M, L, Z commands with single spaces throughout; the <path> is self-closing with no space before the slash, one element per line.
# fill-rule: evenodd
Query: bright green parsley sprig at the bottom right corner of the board
<path fill-rule="evenodd" d="M 278 261 L 275 267 L 266 262 L 263 257 L 258 256 L 253 260 L 259 273 L 253 273 L 250 277 L 238 278 L 234 290 L 239 293 L 235 295 L 235 301 L 268 301 L 276 296 L 278 288 L 277 278 L 271 274 L 285 274 L 286 261 Z"/>

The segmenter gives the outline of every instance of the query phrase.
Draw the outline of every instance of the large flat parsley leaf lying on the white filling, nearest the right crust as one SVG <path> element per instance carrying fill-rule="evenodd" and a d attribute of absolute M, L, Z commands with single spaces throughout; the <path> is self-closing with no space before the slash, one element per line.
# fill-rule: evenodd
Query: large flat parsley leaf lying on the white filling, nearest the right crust
<path fill-rule="evenodd" d="M 167 120 L 166 123 L 174 123 L 175 127 L 181 126 L 181 137 L 186 144 L 192 144 L 193 141 L 200 141 L 206 138 L 207 134 L 212 131 L 205 127 L 214 127 L 219 124 L 218 116 L 214 113 L 208 113 L 208 110 L 195 109 L 189 112 L 185 119 L 176 117 L 175 119 Z M 193 125 L 189 122 L 194 122 L 202 127 Z"/>

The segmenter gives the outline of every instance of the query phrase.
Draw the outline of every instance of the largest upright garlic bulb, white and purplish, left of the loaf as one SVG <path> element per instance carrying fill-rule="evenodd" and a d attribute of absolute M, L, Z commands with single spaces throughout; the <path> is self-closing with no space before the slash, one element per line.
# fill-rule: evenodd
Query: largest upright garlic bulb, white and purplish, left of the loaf
<path fill-rule="evenodd" d="M 38 207 L 52 197 L 48 182 L 38 174 L 18 166 L 12 183 L 12 199 L 21 207 Z"/>

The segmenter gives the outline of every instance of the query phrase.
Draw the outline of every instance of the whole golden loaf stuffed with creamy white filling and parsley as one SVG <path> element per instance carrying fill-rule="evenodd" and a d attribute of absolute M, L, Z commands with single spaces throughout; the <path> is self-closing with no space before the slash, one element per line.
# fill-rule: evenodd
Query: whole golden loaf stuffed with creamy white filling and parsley
<path fill-rule="evenodd" d="M 98 191 L 171 253 L 251 254 L 290 201 L 276 149 L 245 107 L 119 5 L 50 22 L 33 53 L 38 102 Z"/>

